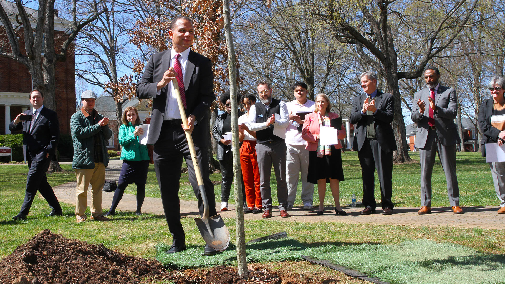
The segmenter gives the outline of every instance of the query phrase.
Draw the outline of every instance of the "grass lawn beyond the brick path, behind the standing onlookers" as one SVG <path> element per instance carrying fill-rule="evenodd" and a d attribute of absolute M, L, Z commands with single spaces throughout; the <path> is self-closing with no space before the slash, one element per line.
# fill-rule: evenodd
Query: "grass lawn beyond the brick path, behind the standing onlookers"
<path fill-rule="evenodd" d="M 420 176 L 421 166 L 419 165 L 419 152 L 410 152 L 410 157 L 415 161 L 406 164 L 398 164 L 393 166 L 393 197 L 392 201 L 396 207 L 420 207 L 421 206 L 421 191 L 420 191 Z M 491 206 L 498 205 L 498 200 L 494 193 L 494 185 L 491 179 L 491 172 L 485 158 L 481 157 L 480 153 L 457 153 L 457 174 L 460 185 L 461 205 L 462 206 Z M 349 204 L 352 193 L 356 194 L 357 200 L 363 198 L 363 183 L 362 171 L 360 162 L 358 161 L 358 152 L 345 152 L 342 154 L 343 170 L 345 180 L 340 182 L 340 204 Z M 185 166 L 185 164 L 183 164 Z M 211 180 L 220 182 L 221 174 L 211 174 Z M 277 204 L 277 182 L 275 174 L 272 171 L 272 195 L 274 205 Z M 326 204 L 333 203 L 333 197 L 327 185 L 325 197 Z M 380 201 L 379 180 L 375 175 L 375 199 Z M 432 175 L 432 206 L 449 206 L 447 199 L 447 183 L 440 162 L 436 160 L 433 167 Z M 196 198 L 188 181 L 188 174 L 181 175 L 180 185 L 181 200 L 193 200 Z M 221 201 L 221 184 L 214 186 L 216 201 Z M 126 193 L 135 194 L 136 187 L 130 184 Z M 300 200 L 301 181 L 298 182 L 297 198 L 295 206 L 302 206 Z M 149 165 L 147 174 L 146 196 L 160 197 L 160 191 L 156 180 L 154 166 Z M 233 188 L 231 190 L 230 199 L 234 200 Z M 314 194 L 314 204 L 319 204 L 317 195 L 317 185 Z"/>

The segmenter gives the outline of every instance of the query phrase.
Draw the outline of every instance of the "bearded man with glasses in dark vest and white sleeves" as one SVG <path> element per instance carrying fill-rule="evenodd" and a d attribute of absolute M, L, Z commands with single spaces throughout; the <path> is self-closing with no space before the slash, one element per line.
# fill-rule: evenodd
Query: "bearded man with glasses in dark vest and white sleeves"
<path fill-rule="evenodd" d="M 258 84 L 260 103 L 251 106 L 247 127 L 256 131 L 256 155 L 260 170 L 260 191 L 263 203 L 263 218 L 272 217 L 272 190 L 270 188 L 270 175 L 274 166 L 277 179 L 277 198 L 279 211 L 282 218 L 289 217 L 287 213 L 287 182 L 286 182 L 286 142 L 283 137 L 274 133 L 285 134 L 289 123 L 289 114 L 286 103 L 272 98 L 272 87 L 268 82 Z M 275 115 L 278 115 L 278 119 Z M 274 126 L 275 125 L 275 126 Z M 276 127 L 276 129 L 274 129 Z M 277 131 L 278 128 L 282 131 Z M 274 131 L 276 130 L 276 131 Z"/>

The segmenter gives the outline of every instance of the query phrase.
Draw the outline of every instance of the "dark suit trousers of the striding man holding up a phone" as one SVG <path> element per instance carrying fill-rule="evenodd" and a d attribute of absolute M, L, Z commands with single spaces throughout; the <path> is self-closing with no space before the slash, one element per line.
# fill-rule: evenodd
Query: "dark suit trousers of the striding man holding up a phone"
<path fill-rule="evenodd" d="M 28 215 L 30 207 L 35 199 L 35 195 L 38 192 L 47 201 L 49 207 L 54 211 L 61 213 L 62 208 L 55 193 L 53 192 L 53 187 L 47 182 L 47 177 L 45 172 L 51 163 L 51 159 L 43 159 L 42 161 L 32 161 L 30 155 L 27 153 L 28 159 L 28 176 L 26 177 L 26 192 L 25 200 L 21 206 L 21 213 Z"/>

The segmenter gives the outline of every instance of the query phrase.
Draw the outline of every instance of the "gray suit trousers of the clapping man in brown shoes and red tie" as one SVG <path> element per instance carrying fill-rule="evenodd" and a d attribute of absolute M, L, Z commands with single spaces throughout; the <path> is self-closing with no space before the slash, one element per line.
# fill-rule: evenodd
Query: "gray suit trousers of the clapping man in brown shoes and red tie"
<path fill-rule="evenodd" d="M 428 130 L 426 145 L 419 149 L 421 162 L 421 206 L 431 207 L 431 174 L 435 164 L 435 153 L 442 164 L 447 180 L 447 196 L 450 206 L 460 206 L 460 187 L 456 177 L 456 145 L 443 146 L 435 129 Z"/>

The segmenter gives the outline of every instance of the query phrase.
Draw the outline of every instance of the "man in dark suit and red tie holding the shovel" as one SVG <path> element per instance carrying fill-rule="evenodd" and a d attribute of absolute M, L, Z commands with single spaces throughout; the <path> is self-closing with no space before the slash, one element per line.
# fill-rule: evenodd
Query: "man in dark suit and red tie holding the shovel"
<path fill-rule="evenodd" d="M 214 186 L 209 178 L 207 147 L 209 146 L 208 110 L 215 100 L 212 62 L 193 51 L 193 24 L 185 16 L 174 18 L 169 36 L 172 49 L 153 55 L 147 62 L 142 79 L 137 85 L 139 99 L 153 99 L 153 112 L 147 143 L 154 145 L 154 162 L 160 186 L 163 209 L 172 234 L 172 247 L 167 254 L 186 249 L 184 230 L 180 221 L 179 179 L 182 158 L 186 160 L 189 182 L 198 198 L 198 210 L 203 215 L 204 205 L 198 190 L 194 165 L 191 160 L 184 130 L 192 131 L 198 165 L 209 201 L 209 214 L 216 212 Z M 172 67 L 172 68 L 171 68 Z M 182 126 L 176 91 L 172 80 L 177 79 L 180 96 L 187 116 L 187 127 Z M 218 253 L 209 245 L 204 255 Z"/>

